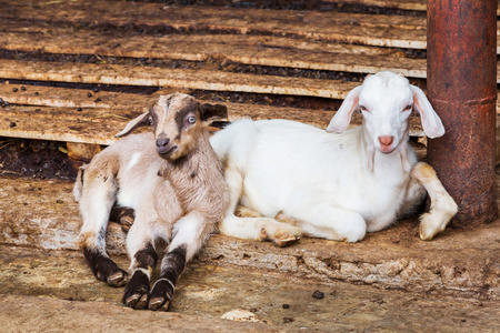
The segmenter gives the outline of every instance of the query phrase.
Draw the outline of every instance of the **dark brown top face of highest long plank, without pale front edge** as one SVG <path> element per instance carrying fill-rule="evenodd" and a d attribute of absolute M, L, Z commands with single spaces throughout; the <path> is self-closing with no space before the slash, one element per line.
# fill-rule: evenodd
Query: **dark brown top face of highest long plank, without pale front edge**
<path fill-rule="evenodd" d="M 424 17 L 321 12 L 308 10 L 240 9 L 202 6 L 164 6 L 126 1 L 3 1 L 10 10 L 2 18 L 28 20 L 66 21 L 79 23 L 113 23 L 162 26 L 166 22 L 179 28 L 192 27 L 247 27 L 262 22 L 269 27 L 283 23 L 311 27 L 360 26 L 400 29 L 426 29 Z M 40 6 L 37 6 L 40 3 Z"/>

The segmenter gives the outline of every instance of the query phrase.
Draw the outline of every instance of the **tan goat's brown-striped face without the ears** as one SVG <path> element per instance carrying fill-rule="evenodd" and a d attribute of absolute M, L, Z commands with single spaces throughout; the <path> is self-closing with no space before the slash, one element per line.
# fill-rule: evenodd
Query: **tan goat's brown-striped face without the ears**
<path fill-rule="evenodd" d="M 201 134 L 198 102 L 186 94 L 160 97 L 151 108 L 157 152 L 164 159 L 177 160 L 189 154 Z"/>

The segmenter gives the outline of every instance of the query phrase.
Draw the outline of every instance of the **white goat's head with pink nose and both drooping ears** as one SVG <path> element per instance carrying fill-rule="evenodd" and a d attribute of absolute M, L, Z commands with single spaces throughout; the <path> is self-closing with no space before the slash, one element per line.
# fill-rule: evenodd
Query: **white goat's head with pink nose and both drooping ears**
<path fill-rule="evenodd" d="M 328 132 L 343 132 L 356 110 L 363 115 L 364 132 L 372 147 L 382 153 L 393 152 L 409 139 L 412 109 L 420 113 L 423 131 L 429 138 L 444 134 L 441 119 L 418 87 L 403 75 L 379 72 L 368 75 L 363 84 L 352 89 L 328 125 Z"/>

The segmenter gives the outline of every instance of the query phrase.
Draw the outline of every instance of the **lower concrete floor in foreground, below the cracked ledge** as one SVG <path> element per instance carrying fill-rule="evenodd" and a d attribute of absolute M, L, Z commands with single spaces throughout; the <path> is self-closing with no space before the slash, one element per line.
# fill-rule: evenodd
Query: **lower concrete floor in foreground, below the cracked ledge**
<path fill-rule="evenodd" d="M 127 266 L 127 258 L 114 259 Z M 79 252 L 3 245 L 0 260 L 0 320 L 7 324 L 3 332 L 112 327 L 217 332 L 500 331 L 496 301 L 324 283 L 200 260 L 181 276 L 170 313 L 133 311 L 120 304 L 122 289 L 94 279 Z M 312 297 L 317 290 L 323 299 Z M 233 310 L 254 315 L 257 322 L 220 320 Z"/>

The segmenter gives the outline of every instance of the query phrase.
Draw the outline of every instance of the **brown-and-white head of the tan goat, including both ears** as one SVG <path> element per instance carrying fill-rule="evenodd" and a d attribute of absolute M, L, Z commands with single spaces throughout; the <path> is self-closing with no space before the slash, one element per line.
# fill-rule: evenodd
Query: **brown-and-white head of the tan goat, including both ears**
<path fill-rule="evenodd" d="M 173 93 L 161 95 L 148 112 L 130 121 L 116 137 L 123 137 L 140 125 L 151 124 L 157 152 L 162 158 L 174 161 L 196 148 L 207 124 L 227 117 L 226 105 L 200 104 L 188 94 Z"/>

